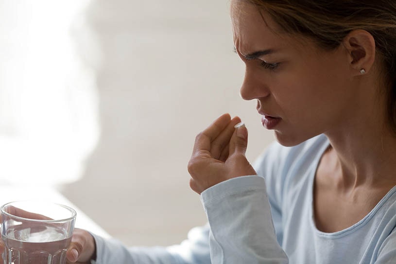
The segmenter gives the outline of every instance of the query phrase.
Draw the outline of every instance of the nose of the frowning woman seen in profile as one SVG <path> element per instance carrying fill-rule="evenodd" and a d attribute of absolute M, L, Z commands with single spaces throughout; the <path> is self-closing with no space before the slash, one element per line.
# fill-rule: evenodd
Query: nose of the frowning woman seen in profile
<path fill-rule="evenodd" d="M 261 78 L 260 75 L 255 74 L 254 71 L 246 69 L 245 77 L 241 86 L 240 94 L 243 100 L 253 100 L 266 97 L 270 94 L 269 89 Z"/>

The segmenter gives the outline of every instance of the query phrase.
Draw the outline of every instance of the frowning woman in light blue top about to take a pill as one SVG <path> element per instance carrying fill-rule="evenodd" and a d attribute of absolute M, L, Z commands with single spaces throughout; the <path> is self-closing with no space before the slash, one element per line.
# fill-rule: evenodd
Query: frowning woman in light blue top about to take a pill
<path fill-rule="evenodd" d="M 210 228 L 169 248 L 95 236 L 97 263 L 396 263 L 396 3 L 232 0 L 231 18 L 241 96 L 278 143 L 253 169 L 241 120 L 219 117 L 189 162 Z"/>

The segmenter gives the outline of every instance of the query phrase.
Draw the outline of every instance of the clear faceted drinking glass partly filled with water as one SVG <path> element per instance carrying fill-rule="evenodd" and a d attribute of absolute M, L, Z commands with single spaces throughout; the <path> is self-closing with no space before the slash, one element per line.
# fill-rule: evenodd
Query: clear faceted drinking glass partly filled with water
<path fill-rule="evenodd" d="M 4 264 L 66 264 L 76 211 L 48 202 L 3 205 L 1 239 Z"/>

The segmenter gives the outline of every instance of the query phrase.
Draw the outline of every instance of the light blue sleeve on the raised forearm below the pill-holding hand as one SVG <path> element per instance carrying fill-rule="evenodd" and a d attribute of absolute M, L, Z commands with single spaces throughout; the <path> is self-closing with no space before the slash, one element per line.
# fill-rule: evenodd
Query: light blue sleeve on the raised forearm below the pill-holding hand
<path fill-rule="evenodd" d="M 278 244 L 265 180 L 242 176 L 201 194 L 210 225 L 212 264 L 287 264 Z"/>

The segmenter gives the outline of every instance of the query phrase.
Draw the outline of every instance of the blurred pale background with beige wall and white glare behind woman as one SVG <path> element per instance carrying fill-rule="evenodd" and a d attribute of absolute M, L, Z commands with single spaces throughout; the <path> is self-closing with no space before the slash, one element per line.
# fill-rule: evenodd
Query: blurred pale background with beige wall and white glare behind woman
<path fill-rule="evenodd" d="M 229 1 L 0 0 L 0 184 L 49 185 L 128 246 L 177 244 L 206 216 L 195 135 L 239 115 Z"/>

